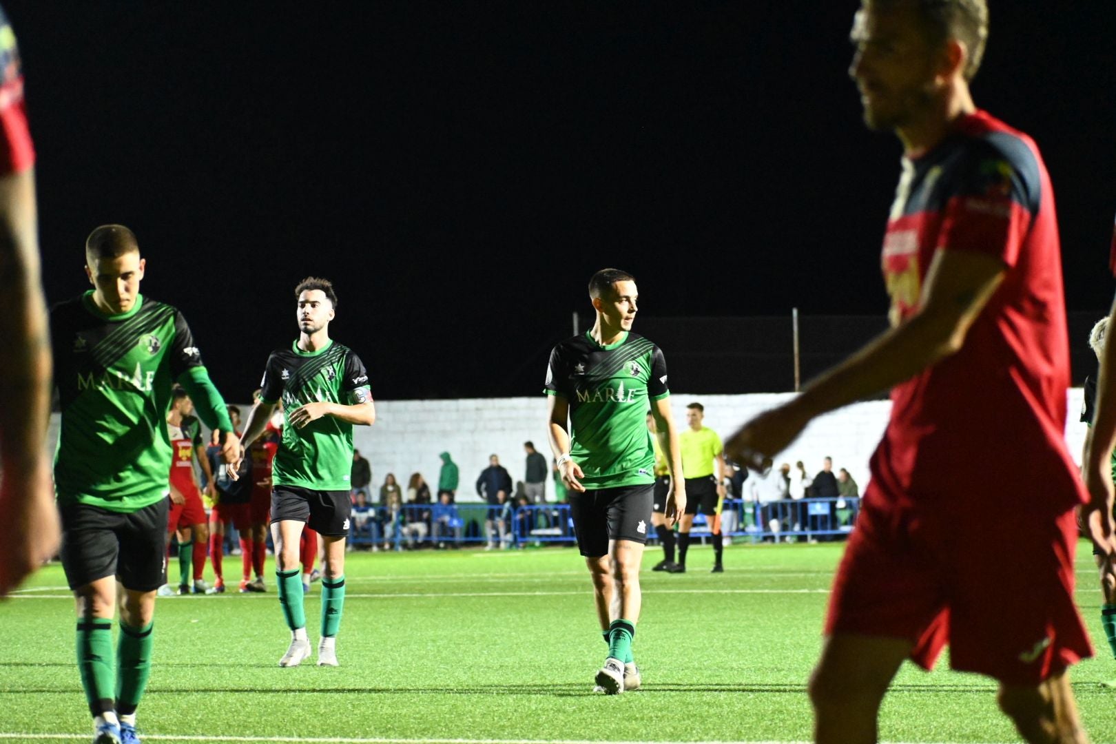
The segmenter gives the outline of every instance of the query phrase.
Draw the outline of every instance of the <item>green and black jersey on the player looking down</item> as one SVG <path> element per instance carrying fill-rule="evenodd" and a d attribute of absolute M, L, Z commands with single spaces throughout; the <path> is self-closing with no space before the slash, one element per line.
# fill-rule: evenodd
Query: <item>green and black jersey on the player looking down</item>
<path fill-rule="evenodd" d="M 171 387 L 202 358 L 182 313 L 142 294 L 106 316 L 93 291 L 50 311 L 61 428 L 61 503 L 133 512 L 164 497 L 171 471 Z"/>

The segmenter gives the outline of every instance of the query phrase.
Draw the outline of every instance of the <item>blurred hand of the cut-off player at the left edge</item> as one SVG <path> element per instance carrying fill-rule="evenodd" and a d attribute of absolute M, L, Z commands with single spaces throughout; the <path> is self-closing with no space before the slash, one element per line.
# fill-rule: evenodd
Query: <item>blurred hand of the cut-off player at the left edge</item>
<path fill-rule="evenodd" d="M 0 597 L 54 558 L 60 539 L 50 464 L 39 457 L 28 467 L 11 466 L 0 482 Z"/>

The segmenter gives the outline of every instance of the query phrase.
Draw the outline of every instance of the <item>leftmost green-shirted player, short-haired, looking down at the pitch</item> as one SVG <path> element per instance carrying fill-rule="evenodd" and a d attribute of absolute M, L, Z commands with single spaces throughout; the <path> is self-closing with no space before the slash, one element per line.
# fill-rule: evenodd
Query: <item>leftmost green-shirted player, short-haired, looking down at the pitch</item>
<path fill-rule="evenodd" d="M 95 742 L 134 744 L 166 553 L 172 385 L 182 385 L 202 421 L 221 432 L 227 462 L 240 448 L 182 313 L 140 293 L 146 267 L 135 234 L 102 225 L 89 234 L 85 259 L 94 289 L 50 312 L 61 558 L 77 600 L 78 669 Z"/>

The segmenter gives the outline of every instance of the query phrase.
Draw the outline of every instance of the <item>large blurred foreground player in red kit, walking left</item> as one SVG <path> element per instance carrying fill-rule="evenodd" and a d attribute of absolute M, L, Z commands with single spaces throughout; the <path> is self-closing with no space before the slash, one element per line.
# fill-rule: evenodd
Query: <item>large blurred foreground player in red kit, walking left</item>
<path fill-rule="evenodd" d="M 1087 741 L 1067 675 L 1093 649 L 1072 598 L 1086 494 L 1064 434 L 1054 195 L 1035 143 L 970 95 L 987 35 L 984 0 L 862 0 L 849 75 L 905 151 L 883 247 L 893 327 L 725 447 L 754 465 L 893 388 L 809 685 L 819 743 L 875 742 L 899 665 L 946 644 L 953 668 L 999 682 L 1026 741 Z"/>

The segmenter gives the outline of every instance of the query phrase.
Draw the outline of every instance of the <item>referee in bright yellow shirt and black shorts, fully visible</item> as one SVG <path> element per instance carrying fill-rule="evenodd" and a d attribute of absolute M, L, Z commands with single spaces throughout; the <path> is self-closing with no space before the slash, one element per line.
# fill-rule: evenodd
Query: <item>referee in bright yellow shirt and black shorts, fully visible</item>
<path fill-rule="evenodd" d="M 679 522 L 679 562 L 667 568 L 671 573 L 685 573 L 686 550 L 690 548 L 690 529 L 694 514 L 700 510 L 713 533 L 713 573 L 721 573 L 724 567 L 724 540 L 721 535 L 721 509 L 724 505 L 724 455 L 721 437 L 716 432 L 702 425 L 705 407 L 700 403 L 686 406 L 686 423 L 690 427 L 679 435 L 682 450 L 682 473 L 686 479 L 686 513 Z"/>

